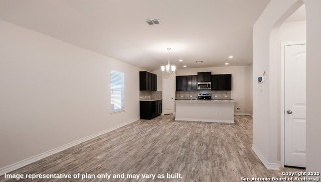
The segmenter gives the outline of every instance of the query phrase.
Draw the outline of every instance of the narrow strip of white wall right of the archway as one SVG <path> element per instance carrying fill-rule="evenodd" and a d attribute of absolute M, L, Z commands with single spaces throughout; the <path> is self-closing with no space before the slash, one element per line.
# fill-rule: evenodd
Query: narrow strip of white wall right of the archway
<path fill-rule="evenodd" d="M 319 96 L 321 79 L 321 1 L 303 1 L 306 8 L 306 170 L 320 171 L 321 169 L 321 122 Z"/>

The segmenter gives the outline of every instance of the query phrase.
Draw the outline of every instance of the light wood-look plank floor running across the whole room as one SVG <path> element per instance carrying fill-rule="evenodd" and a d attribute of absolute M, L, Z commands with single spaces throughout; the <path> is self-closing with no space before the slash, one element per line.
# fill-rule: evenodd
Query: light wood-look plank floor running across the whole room
<path fill-rule="evenodd" d="M 138 120 L 71 147 L 10 174 L 78 174 L 71 179 L 23 181 L 241 181 L 241 177 L 286 177 L 301 168 L 268 170 L 252 151 L 252 117 L 235 116 L 235 124 L 175 121 L 175 115 Z M 95 178 L 81 179 L 81 174 Z M 98 174 L 125 178 L 98 178 Z M 126 174 L 140 174 L 129 179 Z M 157 178 L 164 174 L 165 178 Z M 176 174 L 167 178 L 167 174 Z M 177 178 L 180 177 L 182 178 Z M 0 181 L 17 181 L 0 177 Z"/>

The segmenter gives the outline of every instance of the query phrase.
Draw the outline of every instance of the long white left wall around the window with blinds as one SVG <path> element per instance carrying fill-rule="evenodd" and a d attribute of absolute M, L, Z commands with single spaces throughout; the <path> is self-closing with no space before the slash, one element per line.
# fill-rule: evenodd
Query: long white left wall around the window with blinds
<path fill-rule="evenodd" d="M 110 114 L 110 69 L 125 111 Z M 0 169 L 139 118 L 139 68 L 0 20 Z"/>

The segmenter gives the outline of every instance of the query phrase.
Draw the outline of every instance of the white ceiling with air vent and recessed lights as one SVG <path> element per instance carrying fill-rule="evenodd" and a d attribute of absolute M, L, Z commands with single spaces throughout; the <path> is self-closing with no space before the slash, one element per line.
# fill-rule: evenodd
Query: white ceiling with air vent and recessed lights
<path fill-rule="evenodd" d="M 252 63 L 252 26 L 269 0 L 1 0 L 0 19 L 154 71 Z M 162 24 L 144 20 L 159 18 Z M 228 56 L 234 56 L 228 58 Z M 179 62 L 183 59 L 183 62 Z M 203 63 L 195 61 L 203 60 Z"/>

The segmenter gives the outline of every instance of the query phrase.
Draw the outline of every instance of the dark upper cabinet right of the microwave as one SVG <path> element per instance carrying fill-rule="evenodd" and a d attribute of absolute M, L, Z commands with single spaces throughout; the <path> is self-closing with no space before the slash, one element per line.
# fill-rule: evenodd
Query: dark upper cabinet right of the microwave
<path fill-rule="evenodd" d="M 232 74 L 213 74 L 212 90 L 231 90 Z"/>

